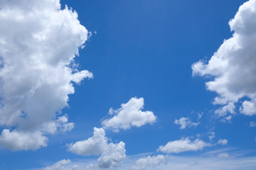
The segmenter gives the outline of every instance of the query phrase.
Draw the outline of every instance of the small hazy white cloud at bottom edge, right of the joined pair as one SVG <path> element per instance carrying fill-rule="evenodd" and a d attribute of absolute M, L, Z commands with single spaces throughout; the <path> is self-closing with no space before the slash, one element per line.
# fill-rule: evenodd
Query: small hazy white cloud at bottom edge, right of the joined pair
<path fill-rule="evenodd" d="M 132 166 L 132 169 L 146 169 L 149 166 L 157 166 L 159 164 L 163 164 L 166 162 L 166 156 L 159 154 L 156 156 L 148 156 L 148 157 L 143 157 L 140 158 L 136 161 L 135 165 Z"/>

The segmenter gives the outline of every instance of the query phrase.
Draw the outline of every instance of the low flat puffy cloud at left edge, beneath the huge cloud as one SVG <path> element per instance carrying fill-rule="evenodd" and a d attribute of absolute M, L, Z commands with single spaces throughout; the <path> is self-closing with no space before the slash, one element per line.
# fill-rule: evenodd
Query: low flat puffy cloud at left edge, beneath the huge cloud
<path fill-rule="evenodd" d="M 35 150 L 40 147 L 46 147 L 47 137 L 41 132 L 20 132 L 4 129 L 0 136 L 0 147 L 6 147 L 14 151 L 18 150 Z"/>

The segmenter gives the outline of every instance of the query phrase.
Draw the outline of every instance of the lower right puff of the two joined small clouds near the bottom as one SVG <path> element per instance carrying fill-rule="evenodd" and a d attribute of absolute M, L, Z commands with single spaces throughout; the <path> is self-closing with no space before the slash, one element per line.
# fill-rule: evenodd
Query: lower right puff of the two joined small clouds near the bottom
<path fill-rule="evenodd" d="M 97 159 L 100 168 L 114 168 L 122 164 L 122 160 L 126 157 L 124 142 L 117 144 L 110 143 L 107 149 Z"/>

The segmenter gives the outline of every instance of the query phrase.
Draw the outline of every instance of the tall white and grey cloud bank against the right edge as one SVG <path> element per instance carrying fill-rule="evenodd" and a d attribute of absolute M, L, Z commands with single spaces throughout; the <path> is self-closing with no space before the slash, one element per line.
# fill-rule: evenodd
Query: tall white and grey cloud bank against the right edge
<path fill-rule="evenodd" d="M 218 93 L 214 103 L 223 106 L 218 115 L 235 113 L 235 103 L 239 100 L 242 101 L 240 113 L 256 114 L 255 18 L 256 0 L 242 4 L 229 22 L 233 37 L 224 40 L 208 62 L 201 60 L 192 65 L 193 75 L 213 78 L 206 86 Z"/>

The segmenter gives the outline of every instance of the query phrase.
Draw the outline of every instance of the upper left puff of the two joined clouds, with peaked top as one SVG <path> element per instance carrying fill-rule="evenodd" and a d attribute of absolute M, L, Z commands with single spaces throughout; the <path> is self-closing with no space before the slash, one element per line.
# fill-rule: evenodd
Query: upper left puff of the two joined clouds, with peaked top
<path fill-rule="evenodd" d="M 94 128 L 93 136 L 68 145 L 68 151 L 80 155 L 99 155 L 108 148 L 105 130 Z"/>

